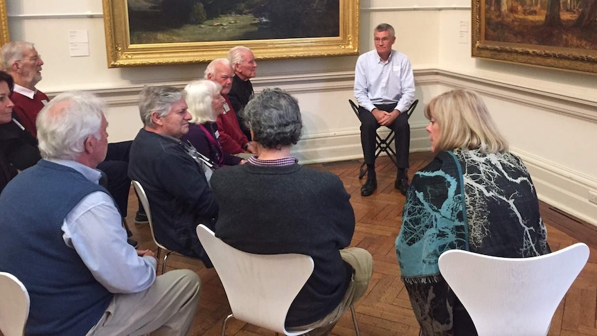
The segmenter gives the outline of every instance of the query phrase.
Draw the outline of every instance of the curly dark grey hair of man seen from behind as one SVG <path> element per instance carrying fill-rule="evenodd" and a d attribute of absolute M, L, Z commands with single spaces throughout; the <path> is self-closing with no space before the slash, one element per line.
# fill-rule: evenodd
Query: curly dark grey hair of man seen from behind
<path fill-rule="evenodd" d="M 299 101 L 283 89 L 265 89 L 249 100 L 244 117 L 253 131 L 253 140 L 265 148 L 279 150 L 301 139 Z"/>

